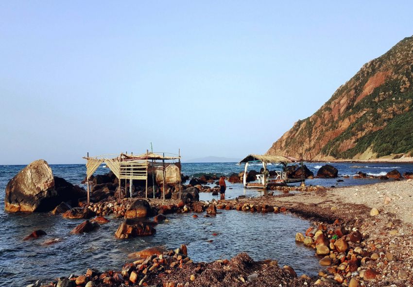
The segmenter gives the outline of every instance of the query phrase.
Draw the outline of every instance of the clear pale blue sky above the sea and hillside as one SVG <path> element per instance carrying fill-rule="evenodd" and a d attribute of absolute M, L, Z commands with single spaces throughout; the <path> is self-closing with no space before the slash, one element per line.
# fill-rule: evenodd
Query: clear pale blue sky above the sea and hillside
<path fill-rule="evenodd" d="M 0 163 L 264 153 L 413 34 L 412 1 L 286 2 L 0 1 Z"/>

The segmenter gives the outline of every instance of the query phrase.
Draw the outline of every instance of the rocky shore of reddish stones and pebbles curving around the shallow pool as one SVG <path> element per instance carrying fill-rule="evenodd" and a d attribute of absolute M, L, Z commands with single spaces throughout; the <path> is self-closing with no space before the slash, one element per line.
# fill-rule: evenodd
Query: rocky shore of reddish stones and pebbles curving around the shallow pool
<path fill-rule="evenodd" d="M 388 198 L 377 195 L 380 185 L 390 191 L 385 195 Z M 315 256 L 320 257 L 321 271 L 315 278 L 306 275 L 297 278 L 291 267 L 277 266 L 276 258 L 255 262 L 246 254 L 230 260 L 194 263 L 187 256 L 186 247 L 181 246 L 179 250 L 144 256 L 119 271 L 97 272 L 91 269 L 85 275 L 71 276 L 68 280 L 60 278 L 46 286 L 409 286 L 413 283 L 412 213 L 406 211 L 409 219 L 404 216 L 406 214 L 388 209 L 397 208 L 392 206 L 395 201 L 401 205 L 411 203 L 409 196 L 403 197 L 404 200 L 400 196 L 395 198 L 393 192 L 396 191 L 393 190 L 411 191 L 413 183 L 408 179 L 380 185 L 221 202 L 172 200 L 165 205 L 159 199 L 149 201 L 157 214 L 194 212 L 196 218 L 204 212 L 203 216 L 214 216 L 220 209 L 236 209 L 244 212 L 288 212 L 310 219 L 314 221 L 312 226 L 305 235 L 298 233 L 296 240 L 314 248 Z M 372 207 L 362 202 L 348 202 L 347 197 L 353 195 L 351 192 L 360 192 L 361 189 L 370 197 L 379 197 L 382 204 L 372 200 L 370 202 L 375 203 Z M 106 207 L 103 205 L 104 208 L 97 209 L 104 211 L 97 214 L 116 213 L 124 217 L 122 213 L 126 214 L 130 207 L 127 201 L 123 201 L 124 208 L 122 203 L 106 203 Z M 108 212 L 107 208 L 113 212 Z M 132 275 L 132 272 L 135 273 Z M 87 282 L 89 285 L 86 285 L 86 281 L 93 283 Z"/>

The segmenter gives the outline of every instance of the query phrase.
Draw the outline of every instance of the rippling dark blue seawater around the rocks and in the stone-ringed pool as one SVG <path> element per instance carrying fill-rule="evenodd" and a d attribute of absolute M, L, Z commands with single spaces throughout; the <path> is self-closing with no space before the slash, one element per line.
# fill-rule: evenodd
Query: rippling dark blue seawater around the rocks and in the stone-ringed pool
<path fill-rule="evenodd" d="M 314 173 L 322 163 L 307 163 Z M 369 174 L 387 173 L 396 168 L 403 173 L 413 171 L 412 164 L 404 163 L 333 163 L 339 175 L 354 175 L 358 171 Z M 354 167 L 355 165 L 360 167 Z M 85 177 L 83 164 L 51 165 L 53 174 L 80 184 Z M 249 169 L 259 171 L 260 165 Z M 269 169 L 279 169 L 269 165 Z M 4 198 L 7 182 L 24 165 L 0 166 L 0 197 Z M 196 176 L 203 173 L 230 175 L 243 171 L 236 163 L 183 163 L 185 175 Z M 108 172 L 99 167 L 97 173 Z M 377 179 L 336 179 L 307 180 L 307 184 L 324 186 L 360 185 L 378 182 Z M 258 196 L 259 190 L 245 190 L 241 184 L 228 183 L 226 197 L 234 198 L 241 194 Z M 211 193 L 201 193 L 201 199 L 212 199 Z M 109 218 L 110 219 L 110 218 Z M 156 226 L 152 237 L 128 240 L 115 239 L 114 233 L 121 223 L 120 219 L 110 219 L 107 224 L 88 234 L 69 235 L 69 231 L 83 220 L 66 220 L 48 213 L 9 214 L 0 208 L 0 286 L 26 286 L 37 279 L 52 280 L 70 273 L 85 273 L 87 268 L 100 270 L 115 269 L 133 258 L 128 255 L 155 245 L 167 248 L 188 245 L 189 256 L 194 261 L 213 261 L 230 258 L 240 252 L 247 252 L 254 259 L 276 259 L 280 265 L 292 266 L 298 274 L 315 275 L 320 269 L 314 250 L 295 243 L 295 233 L 304 232 L 310 225 L 302 220 L 284 214 L 251 214 L 226 211 L 216 217 L 193 219 L 191 214 L 168 215 L 168 223 Z M 47 236 L 23 241 L 35 229 L 42 229 Z M 212 236 L 217 233 L 217 236 Z M 45 245 L 48 239 L 59 238 L 60 242 Z M 208 242 L 209 240 L 212 242 Z"/>

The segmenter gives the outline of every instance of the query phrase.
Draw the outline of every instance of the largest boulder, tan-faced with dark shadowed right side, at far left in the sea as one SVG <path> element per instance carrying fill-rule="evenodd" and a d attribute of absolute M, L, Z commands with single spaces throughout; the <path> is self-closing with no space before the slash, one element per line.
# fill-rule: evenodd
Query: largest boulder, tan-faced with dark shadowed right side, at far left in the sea
<path fill-rule="evenodd" d="M 53 176 L 49 164 L 38 159 L 27 165 L 6 187 L 4 209 L 10 212 L 51 211 L 61 202 L 77 205 L 86 191 L 65 179 Z"/>

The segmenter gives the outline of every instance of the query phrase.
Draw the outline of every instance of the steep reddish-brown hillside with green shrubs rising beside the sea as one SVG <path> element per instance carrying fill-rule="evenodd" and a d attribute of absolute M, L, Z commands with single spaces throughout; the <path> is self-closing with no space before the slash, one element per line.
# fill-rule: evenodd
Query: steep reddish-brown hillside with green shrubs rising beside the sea
<path fill-rule="evenodd" d="M 307 160 L 413 156 L 413 36 L 364 64 L 267 151 Z"/>

